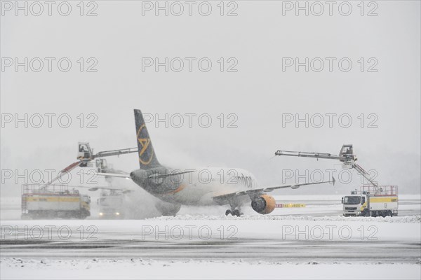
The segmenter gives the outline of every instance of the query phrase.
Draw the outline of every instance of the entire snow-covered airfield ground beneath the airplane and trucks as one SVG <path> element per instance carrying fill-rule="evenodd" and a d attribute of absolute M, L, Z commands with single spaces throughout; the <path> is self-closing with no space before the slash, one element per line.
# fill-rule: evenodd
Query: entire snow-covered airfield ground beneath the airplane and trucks
<path fill-rule="evenodd" d="M 266 216 L 186 207 L 141 220 L 1 219 L 0 278 L 421 278 L 416 197 L 386 218 L 343 217 L 336 198 L 295 199 L 282 202 L 306 207 Z"/>

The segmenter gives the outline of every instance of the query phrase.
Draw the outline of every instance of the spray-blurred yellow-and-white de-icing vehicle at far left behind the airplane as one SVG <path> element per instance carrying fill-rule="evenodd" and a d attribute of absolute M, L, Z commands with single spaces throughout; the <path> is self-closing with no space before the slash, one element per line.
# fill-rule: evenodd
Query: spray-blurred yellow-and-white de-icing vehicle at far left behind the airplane
<path fill-rule="evenodd" d="M 91 216 L 91 197 L 65 185 L 22 185 L 22 218 L 79 218 Z"/>

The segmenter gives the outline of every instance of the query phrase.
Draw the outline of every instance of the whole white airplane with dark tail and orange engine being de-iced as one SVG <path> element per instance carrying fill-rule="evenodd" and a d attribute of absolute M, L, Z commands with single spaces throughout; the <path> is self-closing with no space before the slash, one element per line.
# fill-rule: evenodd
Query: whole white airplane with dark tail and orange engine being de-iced
<path fill-rule="evenodd" d="M 244 169 L 196 168 L 171 169 L 161 165 L 149 137 L 149 132 L 138 109 L 135 113 L 136 139 L 140 169 L 130 174 L 98 173 L 102 176 L 116 176 L 133 180 L 147 193 L 159 198 L 157 206 L 163 216 L 175 216 L 182 205 L 210 206 L 229 205 L 225 215 L 241 216 L 241 207 L 251 202 L 251 207 L 259 214 L 269 214 L 275 209 L 275 200 L 267 193 L 281 188 L 333 183 L 322 181 L 287 186 L 259 187 L 255 176 Z M 203 175 L 205 174 L 205 175 Z M 187 178 L 186 178 L 187 176 Z"/>

